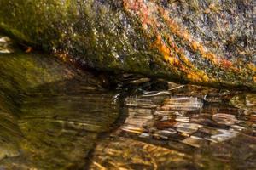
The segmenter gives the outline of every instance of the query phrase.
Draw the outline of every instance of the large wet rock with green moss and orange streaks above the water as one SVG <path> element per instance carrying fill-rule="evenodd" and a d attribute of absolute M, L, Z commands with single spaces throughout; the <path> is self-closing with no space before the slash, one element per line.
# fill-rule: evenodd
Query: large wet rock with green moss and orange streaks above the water
<path fill-rule="evenodd" d="M 3 0 L 0 28 L 102 71 L 256 87 L 252 0 Z"/>

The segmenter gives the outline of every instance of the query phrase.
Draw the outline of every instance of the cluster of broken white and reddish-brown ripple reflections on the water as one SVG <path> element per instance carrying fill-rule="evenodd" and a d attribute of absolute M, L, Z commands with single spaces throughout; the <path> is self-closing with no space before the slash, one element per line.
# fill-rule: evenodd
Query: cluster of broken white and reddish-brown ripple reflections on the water
<path fill-rule="evenodd" d="M 195 141 L 224 141 L 247 128 L 243 121 L 247 116 L 228 104 L 207 103 L 189 93 L 163 96 L 160 105 L 152 98 L 142 95 L 126 99 L 129 116 L 122 131 L 144 138 L 178 139 L 186 144 L 191 141 L 195 145 Z"/>

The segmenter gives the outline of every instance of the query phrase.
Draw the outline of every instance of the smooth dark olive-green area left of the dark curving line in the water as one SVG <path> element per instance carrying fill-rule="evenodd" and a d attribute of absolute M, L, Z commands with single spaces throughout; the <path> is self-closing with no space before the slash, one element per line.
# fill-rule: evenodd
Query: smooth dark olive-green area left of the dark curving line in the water
<path fill-rule="evenodd" d="M 53 56 L 6 54 L 2 40 L 0 169 L 84 168 L 99 134 L 119 116 L 115 93 Z"/>

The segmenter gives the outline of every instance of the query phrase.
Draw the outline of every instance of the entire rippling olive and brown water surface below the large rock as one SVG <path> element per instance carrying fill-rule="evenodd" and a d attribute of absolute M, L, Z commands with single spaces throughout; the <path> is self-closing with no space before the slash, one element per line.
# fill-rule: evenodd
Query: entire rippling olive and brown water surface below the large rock
<path fill-rule="evenodd" d="M 255 94 L 135 75 L 107 90 L 89 72 L 8 44 L 0 169 L 255 169 Z"/>

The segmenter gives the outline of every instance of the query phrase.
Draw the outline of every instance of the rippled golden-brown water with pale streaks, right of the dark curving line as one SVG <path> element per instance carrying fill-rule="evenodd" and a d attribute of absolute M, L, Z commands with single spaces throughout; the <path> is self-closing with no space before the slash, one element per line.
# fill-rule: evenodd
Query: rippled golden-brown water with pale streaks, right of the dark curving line
<path fill-rule="evenodd" d="M 90 168 L 255 168 L 256 95 L 176 86 L 127 97 L 124 124 L 97 145 Z"/>

